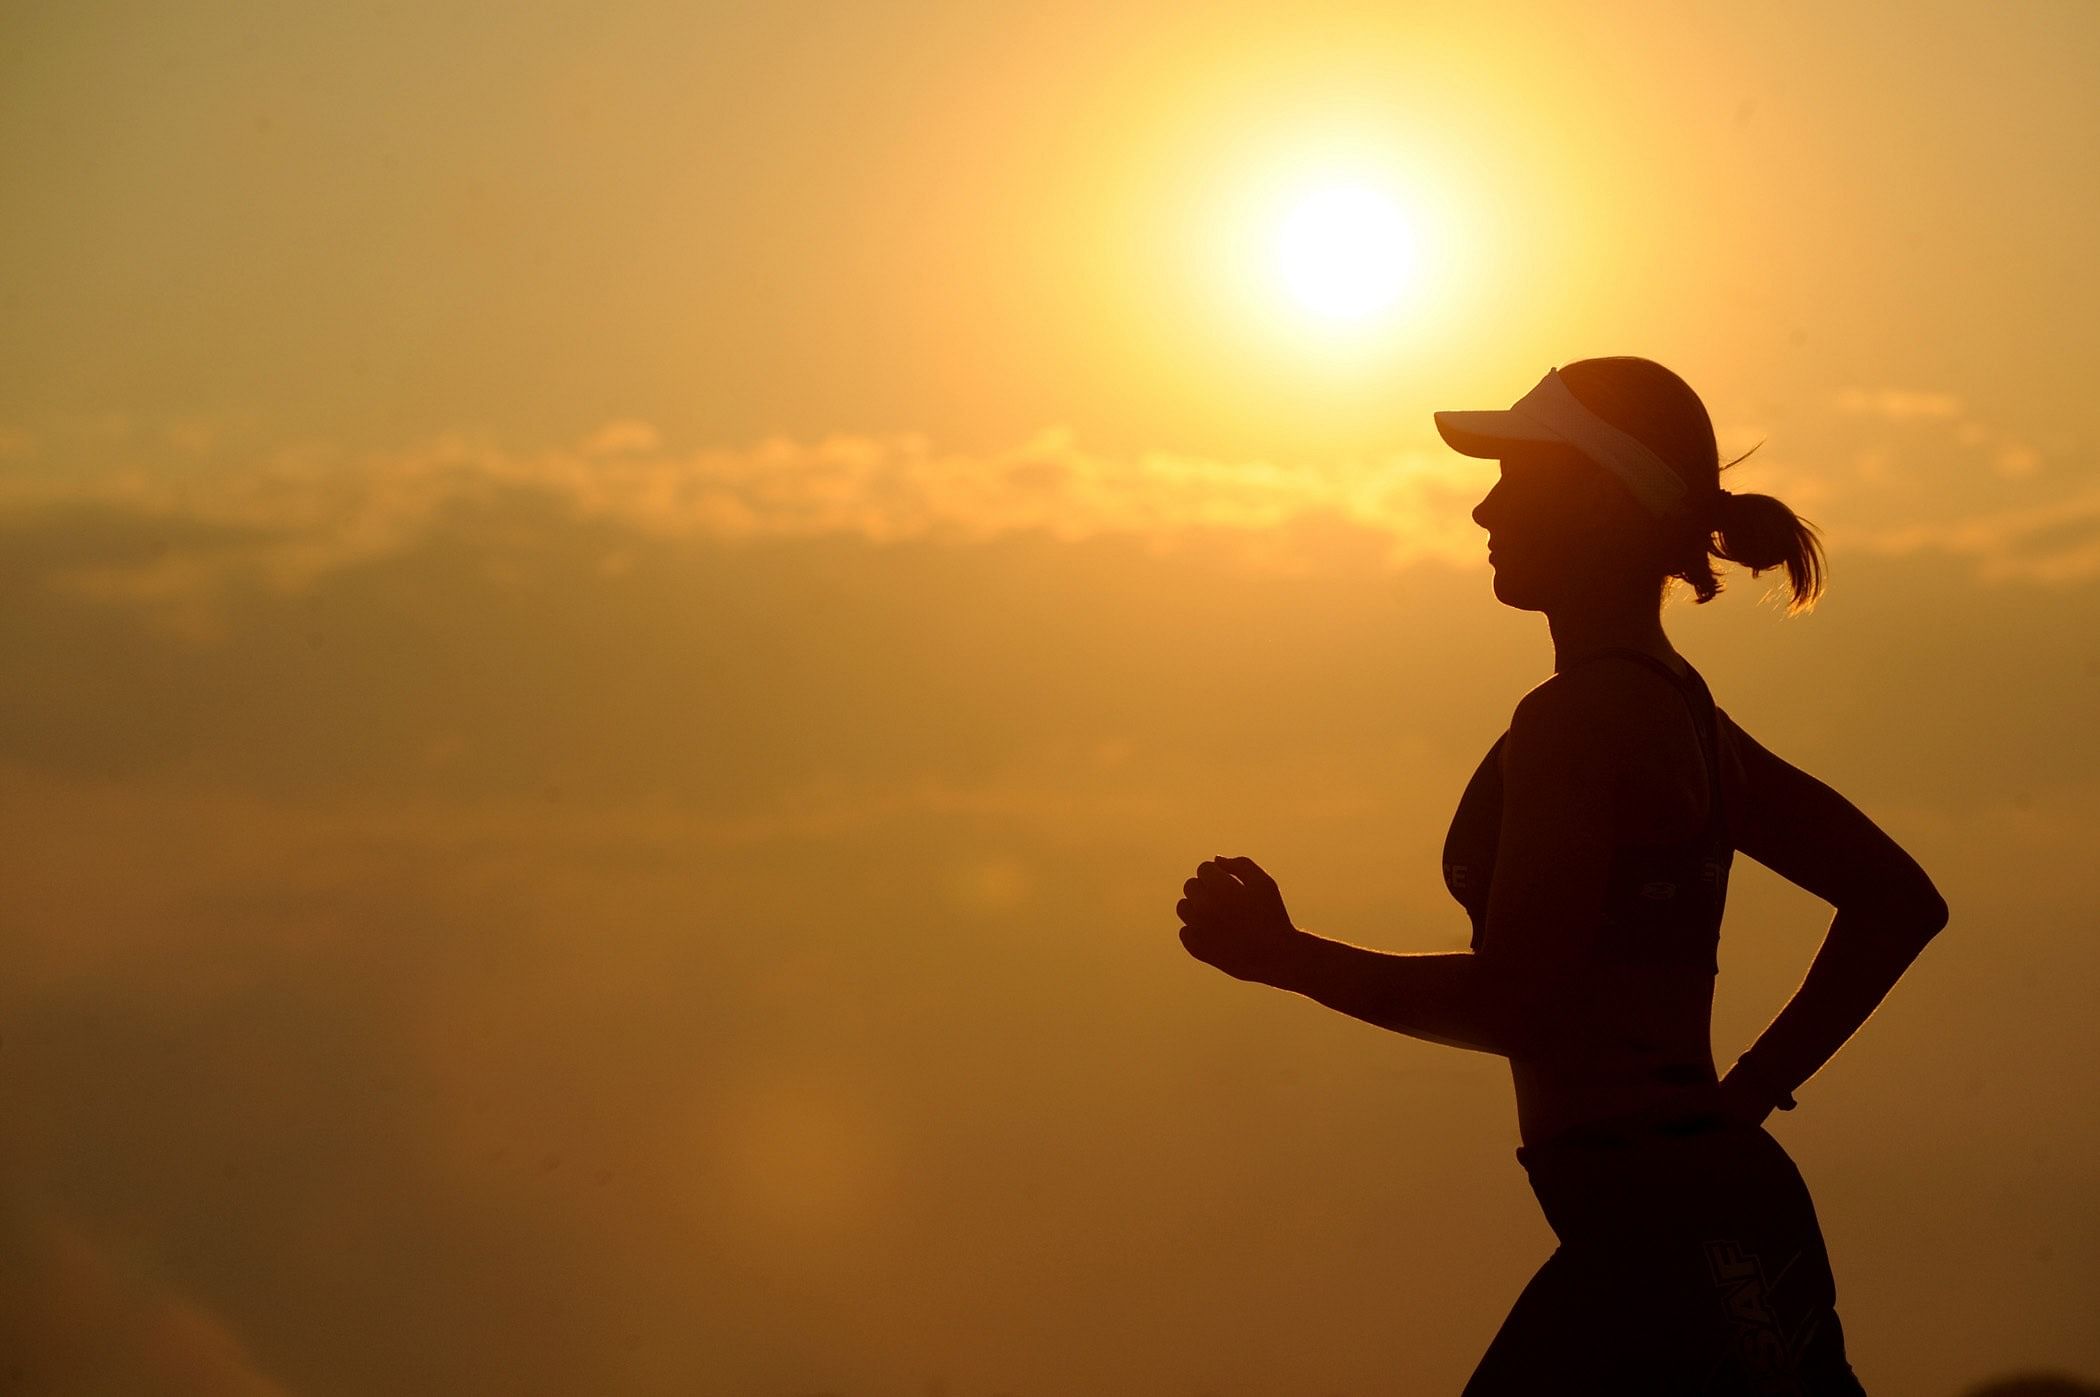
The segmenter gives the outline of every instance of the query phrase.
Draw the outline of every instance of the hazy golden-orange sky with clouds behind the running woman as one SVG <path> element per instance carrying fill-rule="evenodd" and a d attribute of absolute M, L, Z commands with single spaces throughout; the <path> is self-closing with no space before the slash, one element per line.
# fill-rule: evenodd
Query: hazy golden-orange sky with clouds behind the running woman
<path fill-rule="evenodd" d="M 1455 1391 L 1552 1246 L 1504 1065 L 1172 908 L 1466 943 L 1552 651 L 1430 412 L 1615 353 L 1831 557 L 1674 643 L 1953 908 L 1772 1126 L 1854 1368 L 2100 1378 L 2096 71 L 2085 4 L 10 6 L 13 1380 Z M 1737 870 L 1722 1065 L 1829 918 Z"/>

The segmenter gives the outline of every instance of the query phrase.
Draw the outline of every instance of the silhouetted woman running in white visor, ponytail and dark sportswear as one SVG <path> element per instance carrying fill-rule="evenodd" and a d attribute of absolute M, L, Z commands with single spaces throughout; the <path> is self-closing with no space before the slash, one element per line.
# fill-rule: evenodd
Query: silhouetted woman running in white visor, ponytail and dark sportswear
<path fill-rule="evenodd" d="M 1581 359 L 1508 412 L 1438 412 L 1502 462 L 1474 508 L 1495 597 L 1544 611 L 1525 693 L 1445 840 L 1472 950 L 1390 954 L 1292 926 L 1252 859 L 1197 868 L 1193 956 L 1430 1042 L 1510 1059 L 1518 1162 L 1560 1246 L 1466 1397 L 1863 1393 L 1800 1172 L 1764 1130 L 1947 924 L 1932 880 L 1844 796 L 1764 750 L 1672 647 L 1707 555 L 1823 588 L 1814 529 L 1720 487 L 1705 405 L 1659 363 Z M 1728 462 L 1730 466 L 1735 462 Z M 1835 908 L 1808 977 L 1726 1078 L 1716 945 L 1735 851 Z"/>

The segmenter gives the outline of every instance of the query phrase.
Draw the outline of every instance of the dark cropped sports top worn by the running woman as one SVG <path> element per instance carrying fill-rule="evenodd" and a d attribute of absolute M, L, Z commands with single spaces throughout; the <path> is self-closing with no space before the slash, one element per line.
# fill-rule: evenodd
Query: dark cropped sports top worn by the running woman
<path fill-rule="evenodd" d="M 1663 962 L 1701 966 L 1718 975 L 1720 918 L 1728 901 L 1728 868 L 1735 861 L 1722 811 L 1720 710 L 1699 670 L 1686 666 L 1688 672 L 1678 674 L 1638 649 L 1604 649 L 1575 664 L 1604 655 L 1628 655 L 1648 664 L 1684 697 L 1699 733 L 1707 790 L 1714 794 L 1707 800 L 1705 826 L 1697 834 L 1676 842 L 1623 842 L 1613 849 L 1596 937 L 1598 956 L 1602 964 Z M 1472 918 L 1472 950 L 1480 950 L 1487 933 L 1487 891 L 1495 878 L 1495 840 L 1502 834 L 1502 744 L 1508 737 L 1504 731 L 1487 750 L 1445 834 L 1445 887 Z"/>

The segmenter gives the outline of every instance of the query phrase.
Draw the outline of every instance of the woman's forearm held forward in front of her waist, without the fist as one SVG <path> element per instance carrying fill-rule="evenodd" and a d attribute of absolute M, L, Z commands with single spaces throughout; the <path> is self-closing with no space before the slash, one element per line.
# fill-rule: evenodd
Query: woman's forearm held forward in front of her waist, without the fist
<path fill-rule="evenodd" d="M 1472 952 L 1378 952 L 1300 931 L 1260 979 L 1409 1038 L 1499 1057 L 1520 1048 L 1510 983 Z"/>

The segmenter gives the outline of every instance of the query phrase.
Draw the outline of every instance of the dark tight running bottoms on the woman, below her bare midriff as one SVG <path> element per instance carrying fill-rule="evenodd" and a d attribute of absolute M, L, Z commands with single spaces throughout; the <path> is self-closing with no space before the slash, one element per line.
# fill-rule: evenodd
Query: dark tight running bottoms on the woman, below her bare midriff
<path fill-rule="evenodd" d="M 1762 1126 L 1709 1115 L 1516 1160 L 1560 1246 L 1466 1397 L 1865 1397 L 1808 1185 Z"/>

